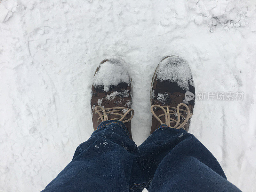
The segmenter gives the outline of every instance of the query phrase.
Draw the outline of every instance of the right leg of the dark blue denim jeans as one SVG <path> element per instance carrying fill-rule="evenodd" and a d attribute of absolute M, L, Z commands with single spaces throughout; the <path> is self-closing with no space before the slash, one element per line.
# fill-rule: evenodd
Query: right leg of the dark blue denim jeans
<path fill-rule="evenodd" d="M 139 146 L 149 192 L 237 192 L 215 157 L 192 134 L 161 125 Z"/>

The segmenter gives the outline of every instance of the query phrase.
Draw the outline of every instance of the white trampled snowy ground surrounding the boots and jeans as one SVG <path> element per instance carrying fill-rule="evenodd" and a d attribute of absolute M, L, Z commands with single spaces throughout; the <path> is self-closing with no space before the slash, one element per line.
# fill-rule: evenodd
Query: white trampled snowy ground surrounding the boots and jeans
<path fill-rule="evenodd" d="M 96 66 L 120 56 L 133 80 L 132 137 L 150 132 L 150 83 L 164 56 L 188 60 L 196 93 L 190 132 L 228 180 L 256 190 L 254 0 L 1 0 L 0 191 L 40 191 L 92 133 Z"/>

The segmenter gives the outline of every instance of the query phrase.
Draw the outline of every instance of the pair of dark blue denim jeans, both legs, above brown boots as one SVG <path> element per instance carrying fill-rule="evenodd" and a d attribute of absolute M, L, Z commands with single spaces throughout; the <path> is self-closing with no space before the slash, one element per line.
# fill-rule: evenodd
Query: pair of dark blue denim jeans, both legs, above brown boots
<path fill-rule="evenodd" d="M 161 125 L 139 147 L 121 121 L 102 122 L 42 192 L 240 191 L 192 134 Z"/>

